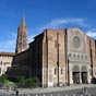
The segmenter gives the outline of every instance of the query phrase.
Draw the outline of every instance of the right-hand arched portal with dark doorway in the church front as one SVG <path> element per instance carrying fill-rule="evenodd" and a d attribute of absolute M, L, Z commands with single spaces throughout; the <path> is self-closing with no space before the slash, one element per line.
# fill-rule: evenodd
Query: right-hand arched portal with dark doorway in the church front
<path fill-rule="evenodd" d="M 86 84 L 87 83 L 87 69 L 85 65 L 82 67 L 81 70 L 81 79 L 82 79 L 82 83 Z"/>

